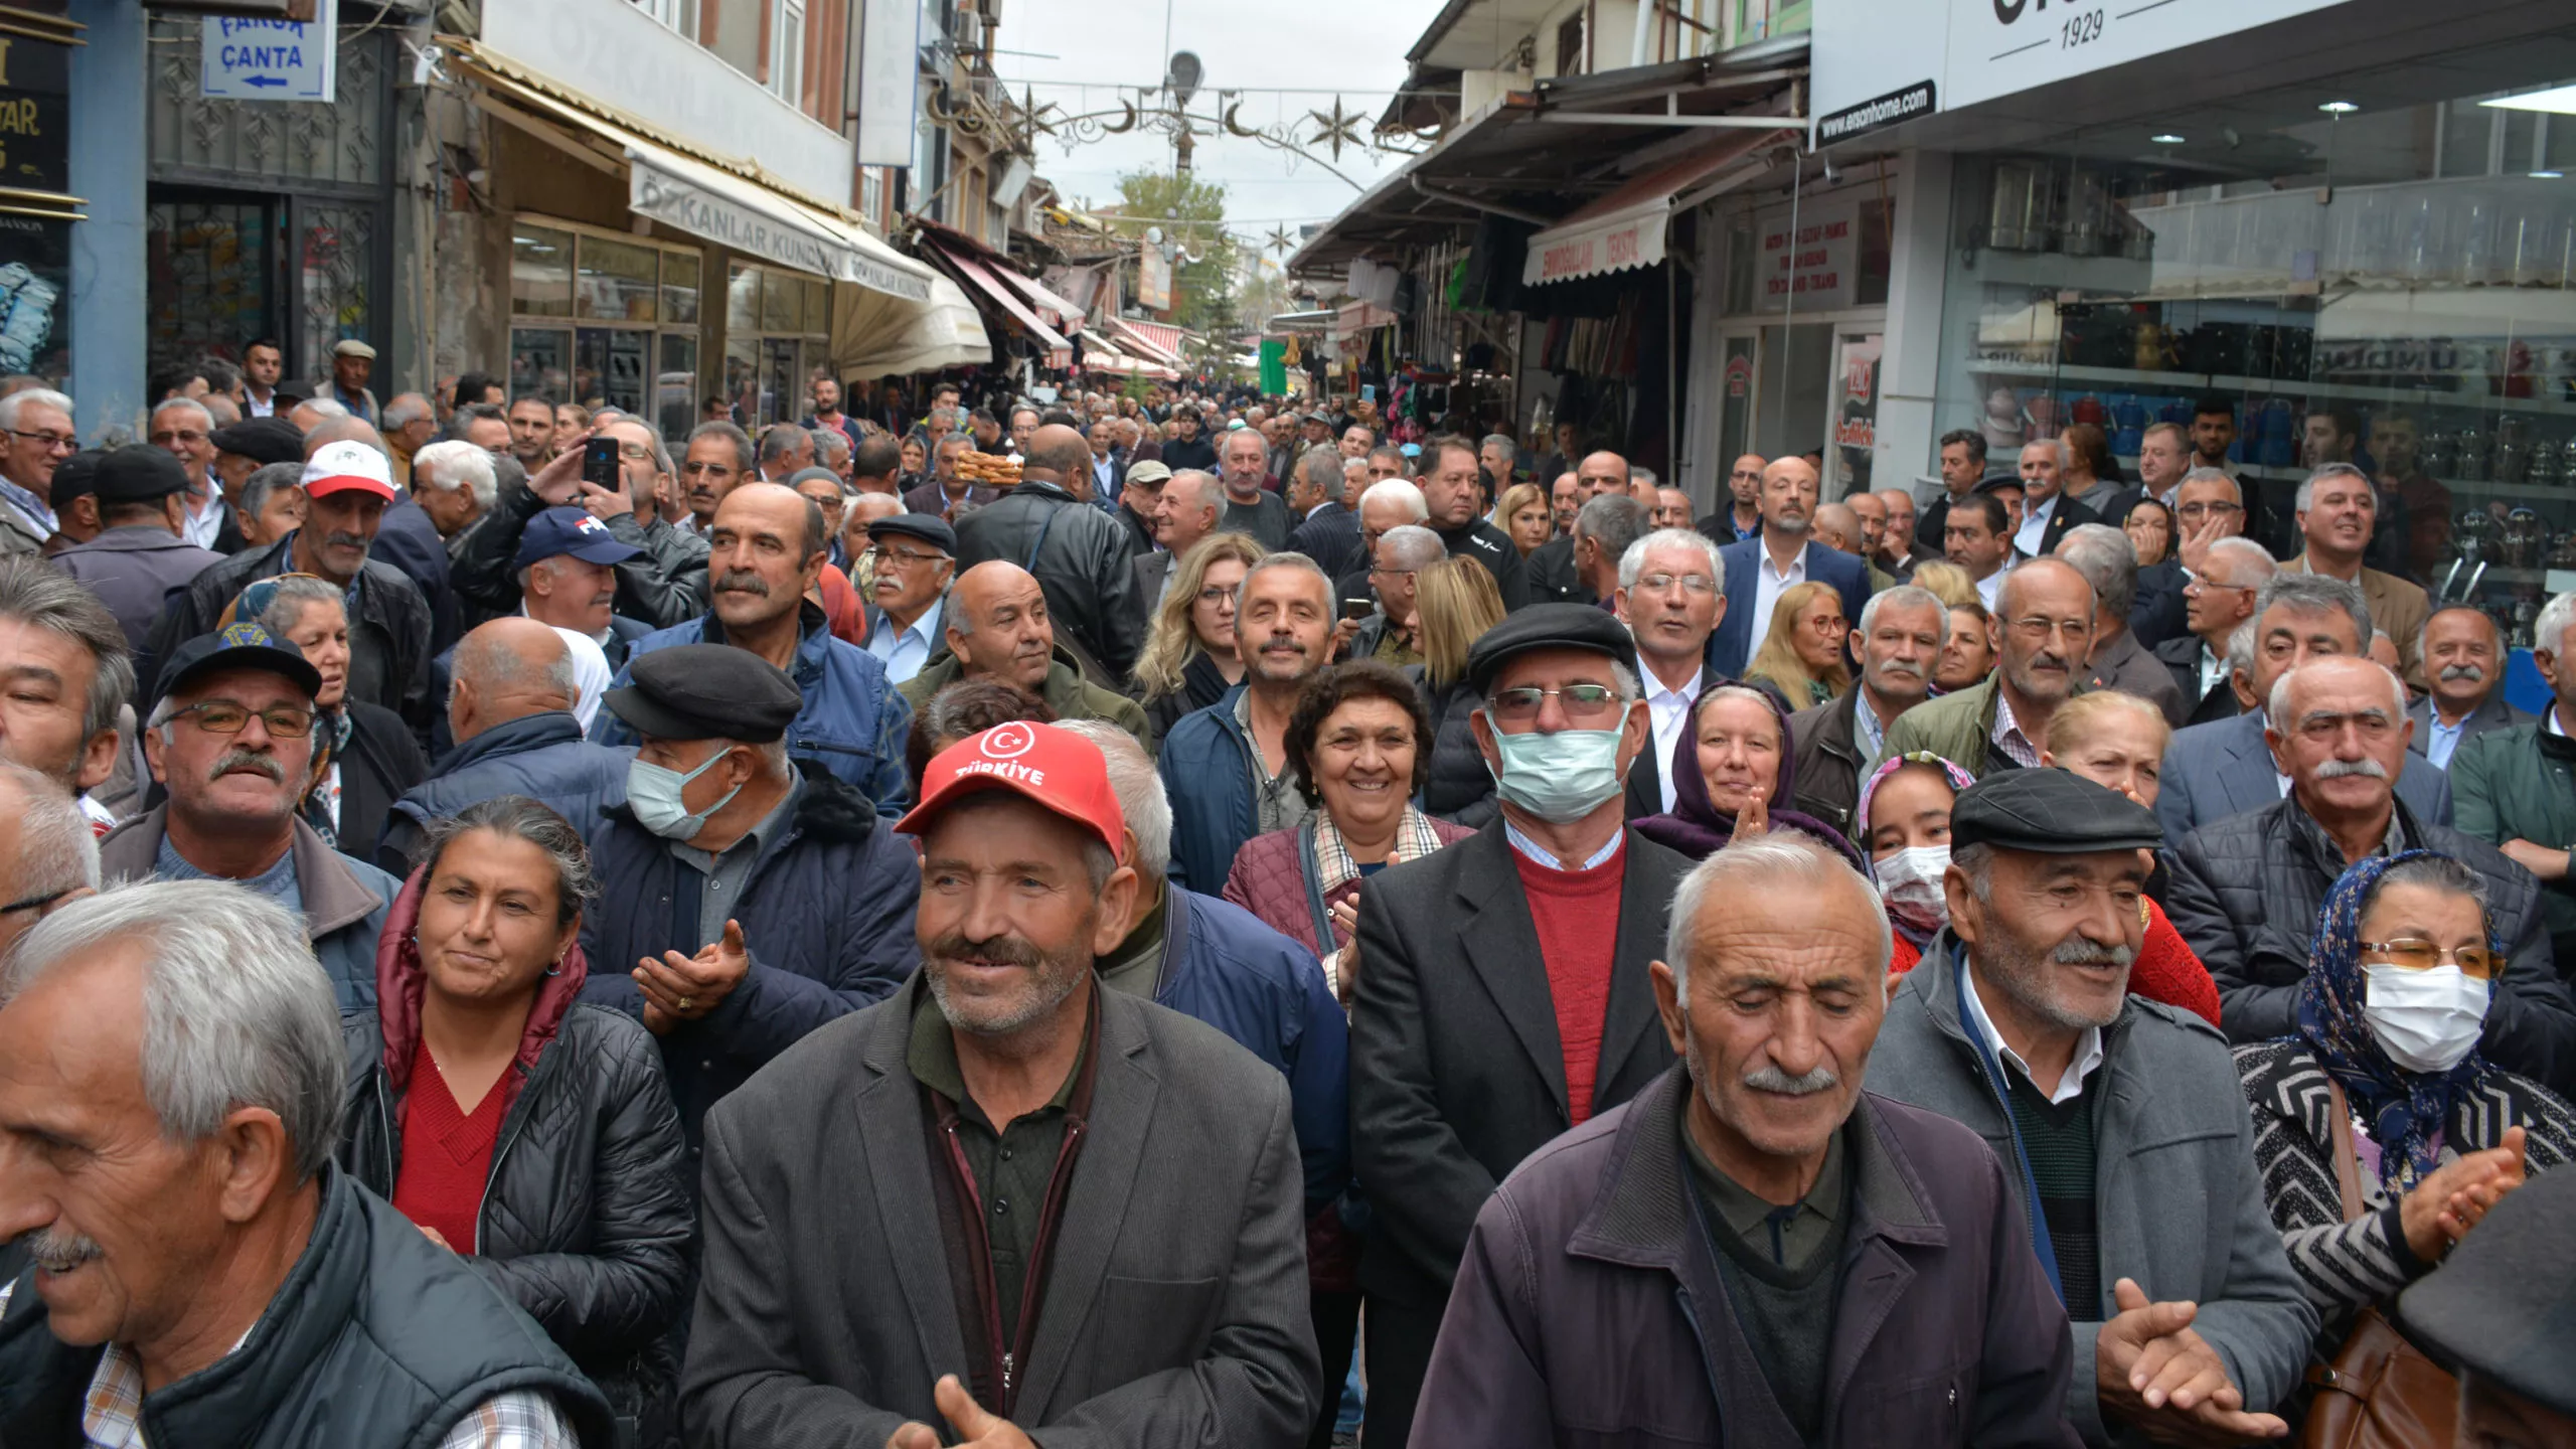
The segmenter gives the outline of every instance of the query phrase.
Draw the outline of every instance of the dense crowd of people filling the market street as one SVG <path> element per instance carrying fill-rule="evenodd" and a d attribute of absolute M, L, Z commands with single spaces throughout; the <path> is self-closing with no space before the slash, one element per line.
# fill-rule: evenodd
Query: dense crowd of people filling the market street
<path fill-rule="evenodd" d="M 366 364 L 0 384 L 5 1444 L 2576 1441 L 2576 593 L 2349 462 Z"/>

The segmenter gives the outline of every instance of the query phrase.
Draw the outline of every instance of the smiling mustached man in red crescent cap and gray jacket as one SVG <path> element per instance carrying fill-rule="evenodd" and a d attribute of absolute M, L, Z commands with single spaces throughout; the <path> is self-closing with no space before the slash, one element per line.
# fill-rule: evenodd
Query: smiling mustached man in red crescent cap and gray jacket
<path fill-rule="evenodd" d="M 1291 1091 L 1100 987 L 1139 895 L 1100 750 L 999 724 L 902 828 L 920 975 L 706 1119 L 688 1441 L 1301 1444 L 1324 1385 Z"/>

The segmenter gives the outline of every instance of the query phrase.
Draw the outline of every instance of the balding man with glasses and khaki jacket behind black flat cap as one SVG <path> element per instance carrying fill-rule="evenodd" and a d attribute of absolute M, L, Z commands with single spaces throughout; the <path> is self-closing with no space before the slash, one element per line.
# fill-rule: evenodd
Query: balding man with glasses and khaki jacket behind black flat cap
<path fill-rule="evenodd" d="M 1955 508 L 1953 526 L 1965 513 Z M 2012 570 L 1994 616 L 1999 668 L 1973 688 L 1904 712 L 1888 724 L 1883 755 L 1932 750 L 1978 779 L 2038 768 L 2048 717 L 2084 683 L 2094 614 L 2092 583 L 2074 565 L 2030 559 Z"/>

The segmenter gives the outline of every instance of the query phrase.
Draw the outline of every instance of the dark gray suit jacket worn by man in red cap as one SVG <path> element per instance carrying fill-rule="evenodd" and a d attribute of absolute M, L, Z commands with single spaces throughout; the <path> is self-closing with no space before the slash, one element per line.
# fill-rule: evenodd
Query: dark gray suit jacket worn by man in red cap
<path fill-rule="evenodd" d="M 809 1034 L 706 1114 L 690 1444 L 945 1434 L 930 1390 L 966 1379 L 966 1338 L 904 1065 L 925 990 Z M 1092 1114 L 1010 1418 L 1046 1449 L 1293 1449 L 1321 1366 L 1288 1083 L 1177 1011 L 1115 990 L 1095 1011 Z"/>

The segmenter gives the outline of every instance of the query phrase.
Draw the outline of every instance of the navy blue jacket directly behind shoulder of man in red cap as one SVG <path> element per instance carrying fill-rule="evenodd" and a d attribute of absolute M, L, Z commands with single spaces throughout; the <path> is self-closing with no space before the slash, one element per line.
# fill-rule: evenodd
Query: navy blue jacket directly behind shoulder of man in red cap
<path fill-rule="evenodd" d="M 1350 1024 L 1314 951 L 1231 900 L 1164 892 L 1154 1006 L 1195 1016 L 1288 1078 L 1306 1217 L 1350 1186 Z"/>

